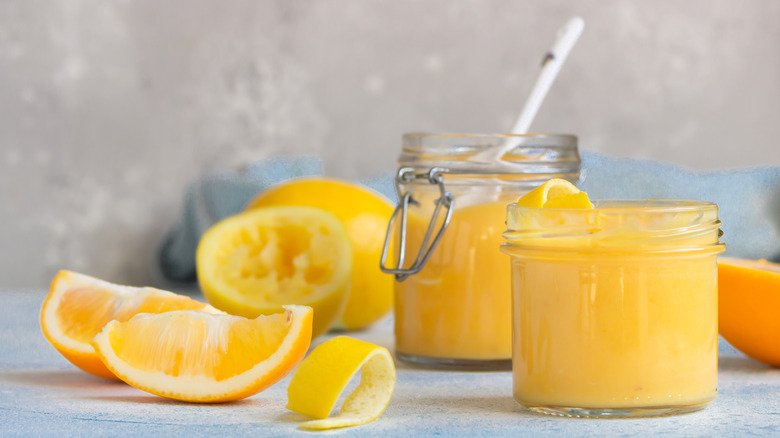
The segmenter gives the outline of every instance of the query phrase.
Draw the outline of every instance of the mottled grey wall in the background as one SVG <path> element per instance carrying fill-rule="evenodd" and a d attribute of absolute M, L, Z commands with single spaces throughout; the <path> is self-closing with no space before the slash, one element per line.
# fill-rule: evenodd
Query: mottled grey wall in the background
<path fill-rule="evenodd" d="M 60 268 L 148 284 L 209 170 L 309 153 L 365 177 L 395 169 L 406 131 L 505 131 L 573 15 L 534 131 L 780 164 L 777 1 L 3 1 L 0 286 Z"/>

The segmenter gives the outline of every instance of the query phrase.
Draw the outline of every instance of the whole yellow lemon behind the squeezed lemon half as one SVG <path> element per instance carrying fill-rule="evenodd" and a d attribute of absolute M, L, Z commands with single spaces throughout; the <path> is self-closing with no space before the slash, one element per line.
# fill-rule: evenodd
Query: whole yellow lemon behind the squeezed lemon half
<path fill-rule="evenodd" d="M 352 288 L 340 325 L 347 330 L 367 327 L 393 307 L 393 277 L 379 270 L 385 231 L 394 206 L 365 187 L 333 178 L 294 179 L 271 187 L 247 209 L 305 205 L 336 215 L 347 229 L 354 254 Z"/>

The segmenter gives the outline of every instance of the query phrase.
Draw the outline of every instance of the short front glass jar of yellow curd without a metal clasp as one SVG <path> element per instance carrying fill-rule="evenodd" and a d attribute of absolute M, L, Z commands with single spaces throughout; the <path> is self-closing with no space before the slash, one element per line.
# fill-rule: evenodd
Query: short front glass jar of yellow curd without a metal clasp
<path fill-rule="evenodd" d="M 600 201 L 510 205 L 513 389 L 570 416 L 655 416 L 715 398 L 715 204 Z"/>

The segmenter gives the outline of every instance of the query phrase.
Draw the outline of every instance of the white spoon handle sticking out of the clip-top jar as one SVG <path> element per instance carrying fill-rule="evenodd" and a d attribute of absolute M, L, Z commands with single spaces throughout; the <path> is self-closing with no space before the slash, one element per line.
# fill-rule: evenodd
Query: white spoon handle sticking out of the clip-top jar
<path fill-rule="evenodd" d="M 531 94 L 523 106 L 523 110 L 520 112 L 520 116 L 515 121 L 512 130 L 512 134 L 526 134 L 528 128 L 531 126 L 531 122 L 536 113 L 539 111 L 539 107 L 542 105 L 544 98 L 547 96 L 547 92 L 550 90 L 555 78 L 558 76 L 558 72 L 569 56 L 574 44 L 582 35 L 582 30 L 585 28 L 585 21 L 580 17 L 571 18 L 566 22 L 558 32 L 555 34 L 555 42 L 552 48 L 544 57 L 542 61 L 542 70 L 539 76 L 536 78 Z M 515 139 L 510 139 L 502 144 L 500 147 L 491 148 L 483 152 L 478 153 L 473 158 L 479 161 L 488 161 L 491 163 L 498 162 L 499 159 L 507 152 L 515 148 L 519 142 Z"/>

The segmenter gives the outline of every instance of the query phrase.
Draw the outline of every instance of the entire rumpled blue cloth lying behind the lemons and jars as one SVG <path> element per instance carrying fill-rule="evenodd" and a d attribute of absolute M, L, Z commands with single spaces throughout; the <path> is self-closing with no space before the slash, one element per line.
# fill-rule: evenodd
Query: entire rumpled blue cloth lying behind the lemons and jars
<path fill-rule="evenodd" d="M 241 171 L 206 174 L 184 198 L 182 217 L 165 238 L 156 260 L 160 287 L 196 287 L 195 250 L 209 226 L 236 214 L 259 192 L 290 178 L 322 174 L 315 156 L 273 158 Z M 695 172 L 653 160 L 583 153 L 580 187 L 591 199 L 689 199 L 716 202 L 726 255 L 780 259 L 780 167 Z M 392 173 L 358 182 L 396 200 Z"/>

